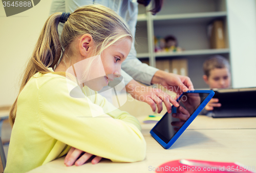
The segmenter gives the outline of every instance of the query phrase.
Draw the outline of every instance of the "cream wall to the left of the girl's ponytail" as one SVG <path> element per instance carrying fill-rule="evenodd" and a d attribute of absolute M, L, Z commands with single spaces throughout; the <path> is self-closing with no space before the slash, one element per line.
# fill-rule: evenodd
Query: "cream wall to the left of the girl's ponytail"
<path fill-rule="evenodd" d="M 0 3 L 0 106 L 11 105 L 18 94 L 21 73 L 49 16 L 51 3 L 40 1 L 9 17 Z"/>

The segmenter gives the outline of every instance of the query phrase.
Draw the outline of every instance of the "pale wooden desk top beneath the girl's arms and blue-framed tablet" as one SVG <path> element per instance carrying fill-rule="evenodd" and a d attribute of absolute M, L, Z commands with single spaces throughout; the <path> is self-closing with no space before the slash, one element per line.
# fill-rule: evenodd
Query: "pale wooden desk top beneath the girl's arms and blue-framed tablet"
<path fill-rule="evenodd" d="M 214 119 L 198 116 L 169 150 L 164 150 L 151 137 L 150 130 L 154 124 L 142 124 L 147 150 L 146 159 L 141 162 L 114 163 L 105 159 L 96 165 L 89 162 L 66 167 L 62 157 L 29 172 L 154 172 L 149 166 L 158 167 L 178 159 L 240 162 L 256 167 L 255 121 L 256 118 Z"/>

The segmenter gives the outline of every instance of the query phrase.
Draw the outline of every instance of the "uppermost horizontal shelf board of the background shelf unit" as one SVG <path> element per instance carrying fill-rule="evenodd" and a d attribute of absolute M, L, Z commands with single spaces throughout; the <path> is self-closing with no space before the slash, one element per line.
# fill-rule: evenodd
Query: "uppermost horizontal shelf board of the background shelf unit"
<path fill-rule="evenodd" d="M 204 23 L 224 18 L 227 12 L 186 13 L 153 16 L 154 24 Z M 166 23 L 167 22 L 167 23 Z"/>

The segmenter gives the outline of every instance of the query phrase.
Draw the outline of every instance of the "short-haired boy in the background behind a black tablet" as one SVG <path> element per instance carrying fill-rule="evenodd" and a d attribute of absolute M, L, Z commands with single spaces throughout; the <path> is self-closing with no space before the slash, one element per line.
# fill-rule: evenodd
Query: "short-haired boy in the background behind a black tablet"
<path fill-rule="evenodd" d="M 226 58 L 220 55 L 209 57 L 203 64 L 203 80 L 210 89 L 230 87 L 230 69 Z M 221 107 L 218 98 L 211 98 L 200 114 L 207 114 L 214 110 L 214 107 Z"/>

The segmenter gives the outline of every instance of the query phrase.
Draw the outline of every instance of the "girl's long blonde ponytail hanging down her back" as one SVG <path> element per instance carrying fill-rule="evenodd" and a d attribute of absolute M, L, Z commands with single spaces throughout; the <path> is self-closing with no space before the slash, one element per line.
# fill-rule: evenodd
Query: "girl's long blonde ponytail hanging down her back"
<path fill-rule="evenodd" d="M 55 65 L 57 65 L 61 53 L 63 52 L 57 30 L 60 16 L 61 13 L 54 13 L 47 19 L 44 28 L 40 33 L 39 39 L 37 40 L 31 59 L 25 69 L 19 93 L 35 73 L 51 72 L 47 68 L 54 68 Z M 11 127 L 13 127 L 16 117 L 17 99 L 18 96 L 10 109 L 9 121 Z"/>

